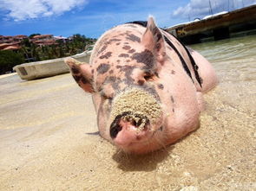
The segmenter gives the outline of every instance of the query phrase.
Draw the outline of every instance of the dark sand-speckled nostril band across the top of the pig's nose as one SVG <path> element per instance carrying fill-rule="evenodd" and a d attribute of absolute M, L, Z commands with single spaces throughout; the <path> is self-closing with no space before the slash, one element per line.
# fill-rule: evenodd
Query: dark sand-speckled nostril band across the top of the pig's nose
<path fill-rule="evenodd" d="M 136 128 L 136 132 L 139 133 L 141 131 L 147 131 L 150 122 L 147 116 L 144 116 L 142 114 L 133 113 L 131 111 L 125 111 L 121 113 L 120 115 L 117 115 L 114 119 L 114 121 L 110 124 L 110 137 L 114 139 L 117 134 L 122 130 L 122 123 L 129 123 L 134 128 Z"/>

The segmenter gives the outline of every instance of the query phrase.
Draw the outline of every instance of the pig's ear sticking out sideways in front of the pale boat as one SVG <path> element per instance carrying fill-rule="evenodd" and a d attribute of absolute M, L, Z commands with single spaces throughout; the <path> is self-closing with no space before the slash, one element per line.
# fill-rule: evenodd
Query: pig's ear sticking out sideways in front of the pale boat
<path fill-rule="evenodd" d="M 85 92 L 94 92 L 92 86 L 93 70 L 89 64 L 72 58 L 65 59 L 65 63 L 69 66 L 70 73 L 76 83 L 81 86 Z"/>

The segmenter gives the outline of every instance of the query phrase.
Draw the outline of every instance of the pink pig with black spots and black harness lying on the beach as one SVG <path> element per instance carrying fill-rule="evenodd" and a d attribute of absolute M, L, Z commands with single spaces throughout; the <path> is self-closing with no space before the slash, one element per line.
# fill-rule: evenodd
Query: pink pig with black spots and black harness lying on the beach
<path fill-rule="evenodd" d="M 100 135 L 135 154 L 159 150 L 196 130 L 202 93 L 218 81 L 202 55 L 158 28 L 152 16 L 109 29 L 96 41 L 89 63 L 65 62 L 92 95 Z"/>

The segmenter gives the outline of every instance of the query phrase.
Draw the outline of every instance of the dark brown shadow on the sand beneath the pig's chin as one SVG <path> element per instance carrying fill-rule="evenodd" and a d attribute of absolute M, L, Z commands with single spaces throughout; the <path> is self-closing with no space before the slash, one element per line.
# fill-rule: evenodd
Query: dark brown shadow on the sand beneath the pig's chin
<path fill-rule="evenodd" d="M 173 149 L 174 145 L 170 145 L 145 155 L 133 155 L 117 150 L 112 158 L 118 163 L 118 168 L 123 171 L 153 171 Z"/>

